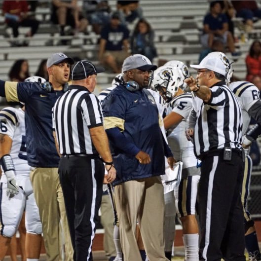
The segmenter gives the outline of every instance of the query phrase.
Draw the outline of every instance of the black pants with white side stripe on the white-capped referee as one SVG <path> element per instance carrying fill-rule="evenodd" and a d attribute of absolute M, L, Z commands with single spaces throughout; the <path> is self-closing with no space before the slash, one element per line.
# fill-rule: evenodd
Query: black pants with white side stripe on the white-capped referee
<path fill-rule="evenodd" d="M 246 260 L 242 181 L 243 161 L 238 152 L 232 152 L 231 161 L 223 160 L 223 150 L 202 160 L 198 186 L 201 260 Z"/>

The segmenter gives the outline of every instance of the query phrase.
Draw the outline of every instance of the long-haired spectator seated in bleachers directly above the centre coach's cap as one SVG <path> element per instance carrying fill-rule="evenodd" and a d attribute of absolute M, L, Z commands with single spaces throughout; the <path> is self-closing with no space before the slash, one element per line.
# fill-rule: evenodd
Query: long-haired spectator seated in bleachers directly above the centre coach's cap
<path fill-rule="evenodd" d="M 145 19 L 140 19 L 135 26 L 130 39 L 131 53 L 143 54 L 152 62 L 157 56 L 157 51 L 154 46 L 154 31 L 150 24 Z"/>

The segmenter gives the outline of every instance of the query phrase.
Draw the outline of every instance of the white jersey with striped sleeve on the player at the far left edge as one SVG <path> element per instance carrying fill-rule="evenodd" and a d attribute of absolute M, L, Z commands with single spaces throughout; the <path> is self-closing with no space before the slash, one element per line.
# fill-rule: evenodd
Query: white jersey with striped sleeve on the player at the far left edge
<path fill-rule="evenodd" d="M 29 176 L 30 166 L 27 163 L 25 140 L 25 112 L 22 109 L 12 107 L 1 110 L 0 133 L 8 135 L 12 139 L 10 155 L 16 174 Z"/>

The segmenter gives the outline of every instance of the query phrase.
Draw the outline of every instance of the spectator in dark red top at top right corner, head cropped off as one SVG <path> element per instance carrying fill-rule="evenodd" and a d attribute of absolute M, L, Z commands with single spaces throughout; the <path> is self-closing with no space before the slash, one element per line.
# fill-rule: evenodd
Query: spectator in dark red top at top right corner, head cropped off
<path fill-rule="evenodd" d="M 261 9 L 258 8 L 257 2 L 255 0 L 232 0 L 231 2 L 236 10 L 236 16 L 244 19 L 245 32 L 251 32 L 254 16 L 261 18 Z"/>

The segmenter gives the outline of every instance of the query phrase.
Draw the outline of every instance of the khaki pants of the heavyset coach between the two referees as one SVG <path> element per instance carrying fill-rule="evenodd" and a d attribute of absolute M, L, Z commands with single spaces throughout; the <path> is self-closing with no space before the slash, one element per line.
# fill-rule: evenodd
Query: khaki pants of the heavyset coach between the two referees
<path fill-rule="evenodd" d="M 120 242 L 124 261 L 142 261 L 136 241 L 140 226 L 149 261 L 168 261 L 164 254 L 164 195 L 160 177 L 124 182 L 115 186 Z"/>

